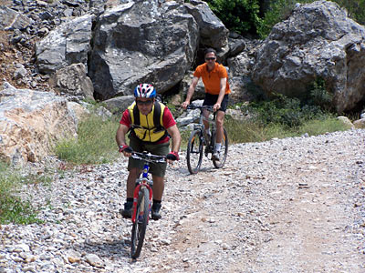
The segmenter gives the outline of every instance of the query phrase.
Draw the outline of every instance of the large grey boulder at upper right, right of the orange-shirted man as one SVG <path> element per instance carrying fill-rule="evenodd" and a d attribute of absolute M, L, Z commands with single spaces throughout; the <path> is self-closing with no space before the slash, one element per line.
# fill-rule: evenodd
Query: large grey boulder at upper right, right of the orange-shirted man
<path fill-rule="evenodd" d="M 257 52 L 251 73 L 266 93 L 302 96 L 316 79 L 325 81 L 337 111 L 350 110 L 365 96 L 365 28 L 339 5 L 317 1 L 297 5 L 274 26 Z"/>

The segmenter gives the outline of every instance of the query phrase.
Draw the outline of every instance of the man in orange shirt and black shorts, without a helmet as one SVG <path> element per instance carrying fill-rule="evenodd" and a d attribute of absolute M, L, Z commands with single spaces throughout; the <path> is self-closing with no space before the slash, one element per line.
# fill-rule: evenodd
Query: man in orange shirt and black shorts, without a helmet
<path fill-rule="evenodd" d="M 205 87 L 203 106 L 214 106 L 214 111 L 218 111 L 215 119 L 217 133 L 212 159 L 219 160 L 224 134 L 224 113 L 227 108 L 228 94 L 231 93 L 231 89 L 228 84 L 227 70 L 224 66 L 215 62 L 216 51 L 213 48 L 205 49 L 204 58 L 205 63 L 196 67 L 195 72 L 193 73 L 192 84 L 189 87 L 188 94 L 182 106 L 186 109 L 186 107 L 190 105 L 195 87 L 198 84 L 199 78 L 202 78 Z M 206 119 L 203 121 L 205 132 L 209 135 L 209 124 L 207 122 L 209 112 L 204 110 L 203 115 Z"/>

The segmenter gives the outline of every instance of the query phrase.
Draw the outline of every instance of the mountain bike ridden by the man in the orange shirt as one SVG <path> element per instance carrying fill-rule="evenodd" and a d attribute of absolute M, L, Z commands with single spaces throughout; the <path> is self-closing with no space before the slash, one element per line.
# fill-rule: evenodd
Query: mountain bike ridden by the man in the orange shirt
<path fill-rule="evenodd" d="M 216 112 L 213 111 L 213 106 L 194 106 L 189 105 L 187 109 L 200 109 L 199 122 L 194 124 L 192 134 L 189 137 L 188 147 L 186 151 L 186 162 L 188 165 L 189 172 L 193 174 L 197 174 L 202 167 L 203 162 L 203 153 L 205 157 L 208 157 L 210 154 L 213 155 L 214 147 L 215 147 L 215 136 L 216 136 L 216 126 L 215 126 L 215 117 Z M 203 125 L 203 110 L 206 109 L 210 112 L 213 112 L 213 118 L 209 118 L 207 121 L 209 122 L 211 135 L 208 136 L 205 133 L 204 125 Z M 204 148 L 205 147 L 205 148 Z M 222 139 L 222 147 L 221 147 L 221 157 L 219 160 L 214 158 L 210 158 L 213 161 L 213 165 L 216 168 L 224 167 L 225 159 L 228 154 L 228 135 L 227 131 L 224 128 L 224 135 Z"/>

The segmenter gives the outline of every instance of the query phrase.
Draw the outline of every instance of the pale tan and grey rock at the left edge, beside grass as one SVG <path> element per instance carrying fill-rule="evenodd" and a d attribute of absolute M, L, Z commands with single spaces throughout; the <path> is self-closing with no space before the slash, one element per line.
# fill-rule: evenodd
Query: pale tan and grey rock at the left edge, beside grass
<path fill-rule="evenodd" d="M 5 83 L 0 92 L 0 158 L 22 164 L 52 154 L 55 140 L 76 136 L 78 119 L 71 109 L 60 96 Z"/>

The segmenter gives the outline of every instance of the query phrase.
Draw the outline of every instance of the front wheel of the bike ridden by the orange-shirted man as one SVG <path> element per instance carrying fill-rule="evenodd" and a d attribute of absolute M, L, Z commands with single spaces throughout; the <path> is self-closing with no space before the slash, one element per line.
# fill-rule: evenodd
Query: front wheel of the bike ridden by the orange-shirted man
<path fill-rule="evenodd" d="M 197 157 L 195 157 L 197 156 Z M 188 147 L 186 151 L 186 163 L 189 172 L 197 174 L 202 167 L 203 161 L 203 132 L 202 130 L 193 130 L 189 137 Z"/>

